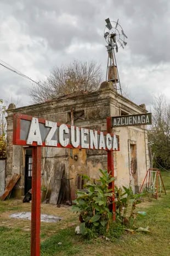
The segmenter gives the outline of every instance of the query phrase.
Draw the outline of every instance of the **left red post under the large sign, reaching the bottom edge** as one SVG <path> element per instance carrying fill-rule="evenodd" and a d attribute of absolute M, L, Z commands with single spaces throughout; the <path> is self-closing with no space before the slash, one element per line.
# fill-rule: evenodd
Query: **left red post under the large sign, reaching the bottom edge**
<path fill-rule="evenodd" d="M 31 256 L 40 255 L 41 146 L 32 147 Z"/>

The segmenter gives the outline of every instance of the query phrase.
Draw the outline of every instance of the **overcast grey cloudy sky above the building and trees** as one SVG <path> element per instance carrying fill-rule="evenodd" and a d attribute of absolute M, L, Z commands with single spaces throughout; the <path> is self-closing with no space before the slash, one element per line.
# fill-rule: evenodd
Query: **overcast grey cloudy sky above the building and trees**
<path fill-rule="evenodd" d="M 169 0 L 1 0 L 0 63 L 33 80 L 74 59 L 101 64 L 106 74 L 105 19 L 128 36 L 116 53 L 122 90 L 148 108 L 153 96 L 170 103 Z M 0 66 L 0 99 L 31 104 L 31 81 Z"/>

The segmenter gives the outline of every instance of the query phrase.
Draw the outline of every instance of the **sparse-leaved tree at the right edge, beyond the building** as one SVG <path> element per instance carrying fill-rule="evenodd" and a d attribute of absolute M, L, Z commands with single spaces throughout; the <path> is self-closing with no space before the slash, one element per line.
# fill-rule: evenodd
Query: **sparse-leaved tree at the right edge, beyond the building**
<path fill-rule="evenodd" d="M 163 95 L 155 97 L 152 110 L 152 126 L 149 131 L 149 143 L 152 149 L 154 167 L 170 166 L 170 105 Z"/>

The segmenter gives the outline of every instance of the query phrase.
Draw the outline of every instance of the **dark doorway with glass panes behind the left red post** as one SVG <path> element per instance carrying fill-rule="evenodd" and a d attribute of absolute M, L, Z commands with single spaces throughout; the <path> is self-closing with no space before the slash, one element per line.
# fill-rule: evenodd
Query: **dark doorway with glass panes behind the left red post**
<path fill-rule="evenodd" d="M 25 155 L 25 194 L 31 189 L 32 183 L 32 149 L 26 149 Z"/>

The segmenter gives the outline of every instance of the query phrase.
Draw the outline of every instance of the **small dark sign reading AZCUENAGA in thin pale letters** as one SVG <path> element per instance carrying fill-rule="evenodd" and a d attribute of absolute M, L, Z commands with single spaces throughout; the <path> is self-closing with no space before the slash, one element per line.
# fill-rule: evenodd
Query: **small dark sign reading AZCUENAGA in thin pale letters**
<path fill-rule="evenodd" d="M 143 126 L 152 123 L 151 113 L 111 118 L 112 127 Z"/>

